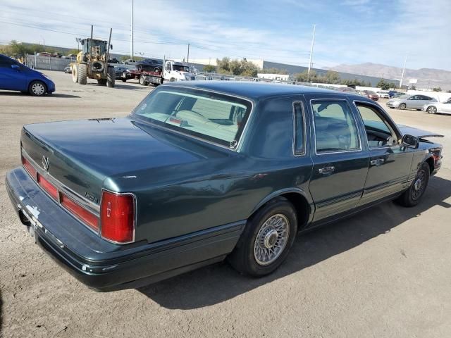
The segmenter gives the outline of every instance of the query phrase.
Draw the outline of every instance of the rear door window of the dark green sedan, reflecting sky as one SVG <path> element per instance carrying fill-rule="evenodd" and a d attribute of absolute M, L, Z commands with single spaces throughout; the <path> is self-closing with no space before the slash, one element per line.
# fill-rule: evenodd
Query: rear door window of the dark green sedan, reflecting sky
<path fill-rule="evenodd" d="M 346 101 L 314 101 L 311 106 L 318 154 L 360 148 L 357 125 Z"/>

